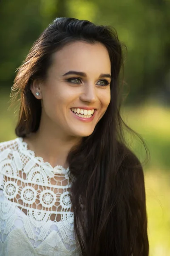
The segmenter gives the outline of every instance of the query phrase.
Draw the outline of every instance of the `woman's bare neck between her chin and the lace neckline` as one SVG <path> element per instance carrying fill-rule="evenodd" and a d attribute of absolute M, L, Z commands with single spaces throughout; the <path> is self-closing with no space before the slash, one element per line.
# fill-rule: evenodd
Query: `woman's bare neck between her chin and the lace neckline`
<path fill-rule="evenodd" d="M 52 167 L 60 165 L 66 169 L 68 153 L 81 138 L 68 136 L 56 128 L 53 132 L 53 129 L 47 126 L 40 123 L 38 131 L 30 134 L 24 141 L 28 144 L 28 149 L 34 151 L 36 156 L 42 157 L 44 162 L 50 163 Z"/>

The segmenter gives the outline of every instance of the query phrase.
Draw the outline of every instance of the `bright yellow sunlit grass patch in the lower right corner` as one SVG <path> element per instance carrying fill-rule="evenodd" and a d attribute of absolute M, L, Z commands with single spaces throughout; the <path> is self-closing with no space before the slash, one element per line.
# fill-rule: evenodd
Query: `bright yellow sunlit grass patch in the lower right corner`
<path fill-rule="evenodd" d="M 145 172 L 150 256 L 170 256 L 170 174 Z"/>

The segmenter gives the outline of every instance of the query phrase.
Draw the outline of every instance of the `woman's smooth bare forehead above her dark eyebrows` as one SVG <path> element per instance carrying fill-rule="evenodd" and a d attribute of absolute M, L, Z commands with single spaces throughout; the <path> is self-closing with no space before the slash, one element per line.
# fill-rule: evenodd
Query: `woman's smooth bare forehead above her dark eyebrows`
<path fill-rule="evenodd" d="M 76 41 L 54 52 L 51 70 L 57 73 L 68 70 L 83 71 L 87 74 L 109 73 L 111 62 L 108 50 L 103 44 Z"/>

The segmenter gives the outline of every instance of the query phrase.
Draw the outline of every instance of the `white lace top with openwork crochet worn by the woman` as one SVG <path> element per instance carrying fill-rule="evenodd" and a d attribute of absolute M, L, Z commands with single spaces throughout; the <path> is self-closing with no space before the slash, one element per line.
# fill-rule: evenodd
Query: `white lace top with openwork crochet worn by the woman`
<path fill-rule="evenodd" d="M 0 143 L 0 256 L 80 255 L 68 171 L 22 138 Z"/>

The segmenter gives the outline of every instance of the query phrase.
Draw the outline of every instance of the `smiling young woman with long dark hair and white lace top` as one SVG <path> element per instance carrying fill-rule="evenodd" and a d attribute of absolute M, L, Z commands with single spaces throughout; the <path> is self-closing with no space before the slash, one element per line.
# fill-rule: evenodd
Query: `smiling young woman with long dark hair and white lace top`
<path fill-rule="evenodd" d="M 87 20 L 57 18 L 34 43 L 12 87 L 17 138 L 0 143 L 1 256 L 148 256 L 121 66 L 116 33 Z"/>

